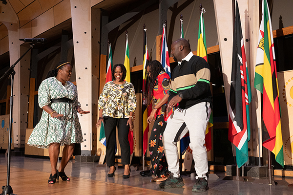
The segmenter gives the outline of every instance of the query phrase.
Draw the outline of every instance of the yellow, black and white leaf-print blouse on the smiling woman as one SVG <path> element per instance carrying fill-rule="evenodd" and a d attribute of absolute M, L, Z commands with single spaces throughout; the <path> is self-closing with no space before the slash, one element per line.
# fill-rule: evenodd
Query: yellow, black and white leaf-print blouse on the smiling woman
<path fill-rule="evenodd" d="M 129 118 L 129 113 L 136 108 L 134 87 L 131 83 L 117 85 L 113 81 L 105 84 L 99 97 L 99 109 L 103 109 L 103 116 L 112 118 Z"/>

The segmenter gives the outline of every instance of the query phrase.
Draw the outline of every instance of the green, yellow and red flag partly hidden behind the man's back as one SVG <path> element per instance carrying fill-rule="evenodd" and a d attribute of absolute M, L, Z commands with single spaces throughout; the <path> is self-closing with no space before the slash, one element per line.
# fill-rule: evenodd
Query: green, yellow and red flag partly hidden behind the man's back
<path fill-rule="evenodd" d="M 197 55 L 204 58 L 208 62 L 207 55 L 207 43 L 206 43 L 206 31 L 204 23 L 204 13 L 206 12 L 205 8 L 202 8 L 199 18 L 199 27 L 198 27 L 198 40 L 197 40 Z M 209 117 L 209 123 L 206 130 L 206 148 L 209 152 L 211 150 L 211 127 L 213 126 L 212 113 Z"/>

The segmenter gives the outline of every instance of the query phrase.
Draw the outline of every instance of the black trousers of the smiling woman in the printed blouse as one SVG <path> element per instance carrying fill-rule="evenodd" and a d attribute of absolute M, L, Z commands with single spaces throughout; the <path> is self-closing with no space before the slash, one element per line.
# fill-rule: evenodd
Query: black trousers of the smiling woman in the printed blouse
<path fill-rule="evenodd" d="M 123 165 L 130 164 L 129 125 L 126 125 L 127 121 L 128 118 L 104 117 L 106 161 L 108 167 L 115 165 L 116 127 L 118 128 L 118 140 L 121 148 L 121 163 Z"/>

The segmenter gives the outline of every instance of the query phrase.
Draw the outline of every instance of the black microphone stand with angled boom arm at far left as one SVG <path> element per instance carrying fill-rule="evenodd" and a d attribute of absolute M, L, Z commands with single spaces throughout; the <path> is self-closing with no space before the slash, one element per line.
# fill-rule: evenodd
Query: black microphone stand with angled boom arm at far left
<path fill-rule="evenodd" d="M 23 56 L 32 48 L 34 47 L 34 43 L 32 43 L 29 47 L 29 49 L 22 54 L 22 56 L 14 63 L 11 65 L 6 72 L 1 76 L 0 81 L 7 75 L 11 75 L 11 96 L 10 96 L 10 114 L 9 114 L 9 137 L 8 137 L 8 160 L 7 160 L 7 180 L 6 180 L 6 186 L 2 186 L 2 194 L 1 195 L 15 195 L 13 194 L 13 190 L 11 186 L 9 185 L 10 181 L 10 152 L 11 152 L 11 128 L 12 128 L 12 111 L 13 111 L 13 82 L 14 82 L 14 67 L 15 65 L 23 58 Z"/>

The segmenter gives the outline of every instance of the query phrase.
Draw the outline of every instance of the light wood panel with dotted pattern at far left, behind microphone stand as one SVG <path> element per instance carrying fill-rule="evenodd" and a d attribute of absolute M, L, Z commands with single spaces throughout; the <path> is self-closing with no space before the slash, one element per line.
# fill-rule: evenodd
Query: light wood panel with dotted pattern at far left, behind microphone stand
<path fill-rule="evenodd" d="M 1 126 L 0 126 L 0 148 L 8 149 L 8 136 L 9 136 L 9 114 L 1 115 Z M 13 126 L 12 126 L 13 127 Z M 11 137 L 13 137 L 13 128 L 11 131 Z M 14 149 L 13 139 L 11 143 L 11 149 Z"/>

